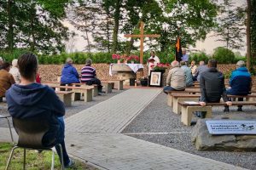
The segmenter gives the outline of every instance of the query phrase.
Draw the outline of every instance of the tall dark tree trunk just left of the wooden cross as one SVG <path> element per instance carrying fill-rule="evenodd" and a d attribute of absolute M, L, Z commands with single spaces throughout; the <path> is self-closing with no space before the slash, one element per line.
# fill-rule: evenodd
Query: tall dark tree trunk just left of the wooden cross
<path fill-rule="evenodd" d="M 122 0 L 115 0 L 115 11 L 113 14 L 114 27 L 113 27 L 113 44 L 112 44 L 112 53 L 117 52 L 118 48 L 118 34 L 119 34 L 119 18 L 120 18 L 120 6 Z"/>

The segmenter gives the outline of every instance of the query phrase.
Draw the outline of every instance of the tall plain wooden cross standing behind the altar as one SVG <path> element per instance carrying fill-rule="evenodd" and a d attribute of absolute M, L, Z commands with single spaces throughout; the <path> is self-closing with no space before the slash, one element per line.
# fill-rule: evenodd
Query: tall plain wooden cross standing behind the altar
<path fill-rule="evenodd" d="M 143 64 L 143 42 L 144 37 L 160 37 L 159 34 L 144 34 L 144 22 L 141 22 L 141 34 L 127 34 L 125 37 L 140 37 L 141 38 L 141 54 L 140 54 L 140 63 Z"/>

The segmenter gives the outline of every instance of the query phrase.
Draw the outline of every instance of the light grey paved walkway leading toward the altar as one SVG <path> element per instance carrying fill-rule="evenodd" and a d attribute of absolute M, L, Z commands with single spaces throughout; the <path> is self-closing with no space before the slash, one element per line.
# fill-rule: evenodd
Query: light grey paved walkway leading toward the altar
<path fill-rule="evenodd" d="M 242 169 L 121 134 L 159 93 L 159 89 L 130 89 L 67 118 L 69 154 L 111 170 Z"/>

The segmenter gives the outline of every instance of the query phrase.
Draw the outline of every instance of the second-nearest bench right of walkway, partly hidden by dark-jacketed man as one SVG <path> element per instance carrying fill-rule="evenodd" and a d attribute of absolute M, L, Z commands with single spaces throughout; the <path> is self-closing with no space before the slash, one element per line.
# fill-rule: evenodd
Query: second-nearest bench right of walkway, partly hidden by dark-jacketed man
<path fill-rule="evenodd" d="M 180 114 L 181 106 L 179 102 L 183 101 L 195 101 L 198 102 L 201 94 L 171 94 L 172 95 L 172 111 L 176 114 Z M 245 98 L 246 101 L 253 101 L 256 99 L 255 94 L 248 95 L 228 95 L 229 98 Z"/>

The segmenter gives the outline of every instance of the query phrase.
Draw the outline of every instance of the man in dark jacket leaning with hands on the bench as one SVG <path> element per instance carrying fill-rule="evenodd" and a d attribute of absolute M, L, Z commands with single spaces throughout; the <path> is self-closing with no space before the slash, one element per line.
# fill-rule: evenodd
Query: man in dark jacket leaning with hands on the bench
<path fill-rule="evenodd" d="M 202 72 L 200 77 L 200 105 L 205 106 L 207 103 L 218 103 L 221 97 L 227 105 L 232 105 L 226 94 L 224 75 L 217 70 L 217 61 L 215 59 L 209 59 L 208 67 L 209 69 Z M 205 115 L 206 112 L 202 111 L 197 116 L 204 118 Z"/>

